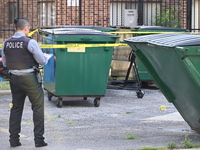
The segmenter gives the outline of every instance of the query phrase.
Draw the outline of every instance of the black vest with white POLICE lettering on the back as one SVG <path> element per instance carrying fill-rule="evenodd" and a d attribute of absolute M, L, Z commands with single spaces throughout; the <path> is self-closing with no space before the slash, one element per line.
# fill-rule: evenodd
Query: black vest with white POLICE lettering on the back
<path fill-rule="evenodd" d="M 38 67 L 33 55 L 28 51 L 28 42 L 31 39 L 22 36 L 21 38 L 9 38 L 4 44 L 6 66 L 9 70 L 30 69 Z"/>

